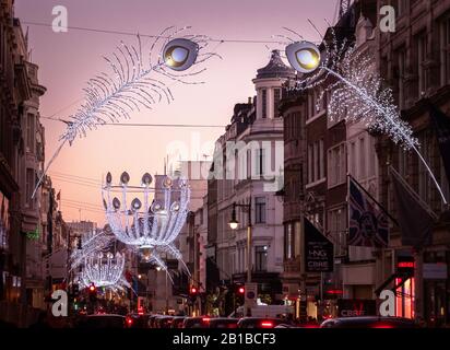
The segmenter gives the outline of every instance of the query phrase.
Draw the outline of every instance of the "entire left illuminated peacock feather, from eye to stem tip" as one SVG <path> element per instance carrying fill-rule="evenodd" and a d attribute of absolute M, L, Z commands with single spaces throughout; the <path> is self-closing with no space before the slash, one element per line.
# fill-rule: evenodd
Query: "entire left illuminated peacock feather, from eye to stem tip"
<path fill-rule="evenodd" d="M 85 137 L 87 131 L 108 121 L 129 119 L 132 113 L 140 112 L 141 108 L 152 109 L 153 105 L 163 100 L 170 103 L 174 100 L 170 89 L 159 78 L 182 84 L 203 83 L 189 81 L 189 78 L 200 74 L 205 68 L 187 73 L 182 71 L 220 56 L 215 52 L 203 52 L 209 45 L 209 37 L 205 35 L 176 37 L 187 30 L 190 30 L 190 26 L 179 30 L 175 26 L 165 28 L 152 43 L 146 55 L 142 51 L 141 37 L 138 35 L 137 46 L 120 42 L 110 57 L 104 57 L 110 71 L 100 72 L 87 81 L 87 88 L 83 89 L 84 103 L 70 117 L 70 121 L 67 121 L 60 144 L 40 175 L 33 198 L 67 142 L 72 145 L 76 137 Z M 155 51 L 158 51 L 158 55 L 154 61 Z"/>

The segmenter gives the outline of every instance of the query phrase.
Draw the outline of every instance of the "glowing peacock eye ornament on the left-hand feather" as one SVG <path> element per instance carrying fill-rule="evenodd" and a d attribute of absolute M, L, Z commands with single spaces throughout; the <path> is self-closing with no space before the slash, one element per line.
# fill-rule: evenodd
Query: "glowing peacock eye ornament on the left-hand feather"
<path fill-rule="evenodd" d="M 164 47 L 164 62 L 173 70 L 187 70 L 196 62 L 199 49 L 199 44 L 187 38 L 173 39 Z"/>

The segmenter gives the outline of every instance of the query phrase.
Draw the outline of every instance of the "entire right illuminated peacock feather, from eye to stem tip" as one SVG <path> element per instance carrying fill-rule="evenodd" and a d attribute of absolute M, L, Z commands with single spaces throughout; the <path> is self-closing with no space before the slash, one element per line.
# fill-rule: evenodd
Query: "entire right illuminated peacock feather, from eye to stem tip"
<path fill-rule="evenodd" d="M 310 24 L 317 30 L 312 22 Z M 405 150 L 413 150 L 427 168 L 442 201 L 447 203 L 431 168 L 418 151 L 418 141 L 413 137 L 411 126 L 400 117 L 391 89 L 382 86 L 382 79 L 372 69 L 374 57 L 365 51 L 358 51 L 346 38 L 339 43 L 334 27 L 331 24 L 329 26 L 331 39 L 322 40 L 322 52 L 317 45 L 305 42 L 294 31 L 288 30 L 300 40 L 281 36 L 288 40 L 285 43 L 287 60 L 301 73 L 294 89 L 308 90 L 320 85 L 322 92 L 318 104 L 325 93 L 330 94 L 330 119 L 363 121 L 369 130 L 382 132 Z"/>

